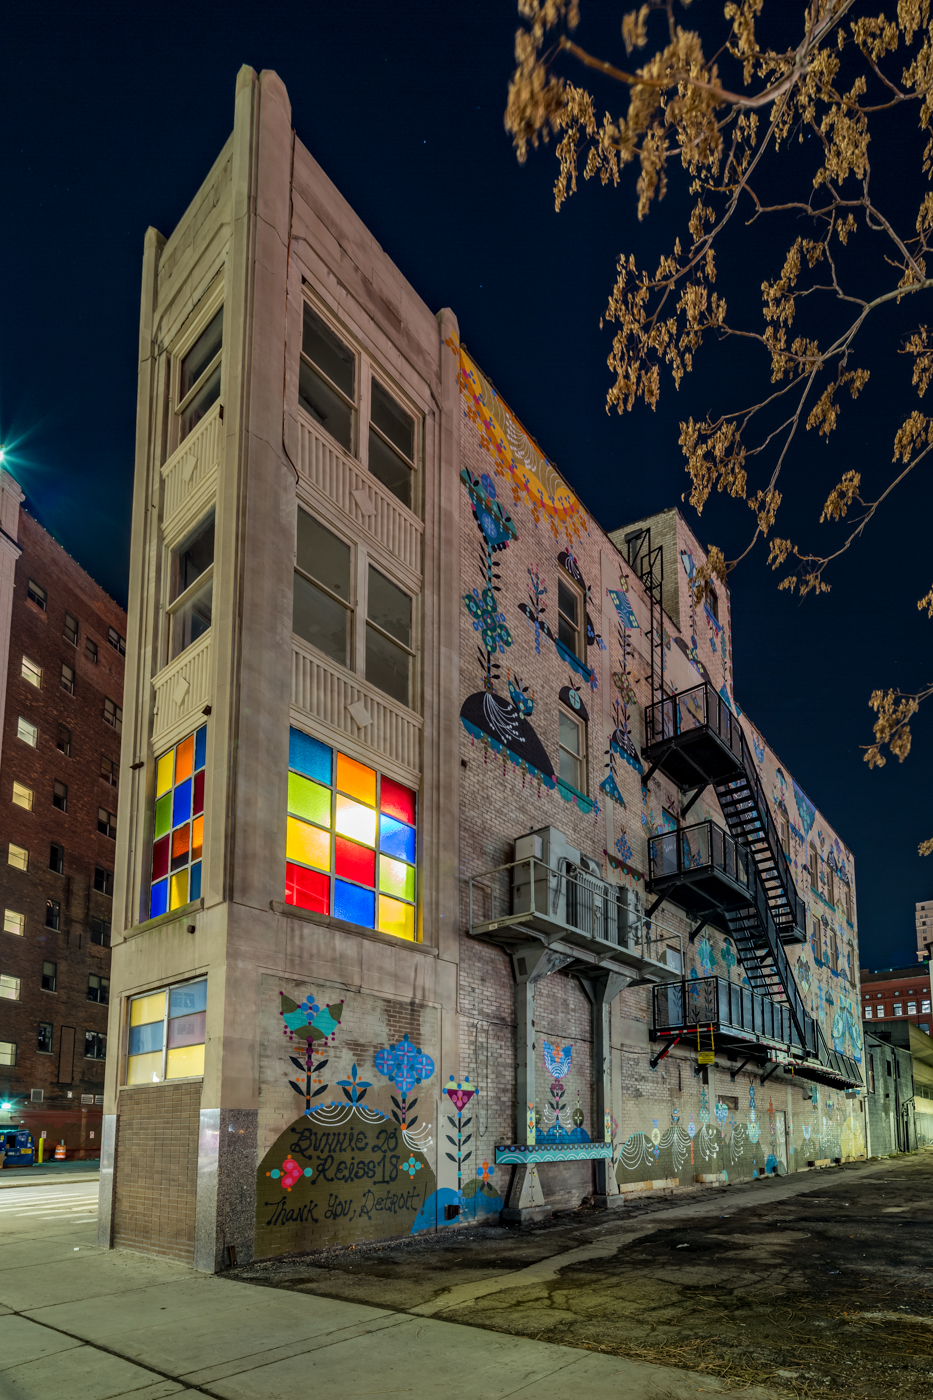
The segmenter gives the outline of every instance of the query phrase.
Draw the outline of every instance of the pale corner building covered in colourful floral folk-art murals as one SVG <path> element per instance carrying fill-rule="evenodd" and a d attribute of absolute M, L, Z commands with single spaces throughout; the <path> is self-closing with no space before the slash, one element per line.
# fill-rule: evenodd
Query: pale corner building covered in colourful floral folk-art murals
<path fill-rule="evenodd" d="M 143 262 L 101 1240 L 864 1152 L 852 857 L 677 511 L 591 519 L 244 69 Z"/>

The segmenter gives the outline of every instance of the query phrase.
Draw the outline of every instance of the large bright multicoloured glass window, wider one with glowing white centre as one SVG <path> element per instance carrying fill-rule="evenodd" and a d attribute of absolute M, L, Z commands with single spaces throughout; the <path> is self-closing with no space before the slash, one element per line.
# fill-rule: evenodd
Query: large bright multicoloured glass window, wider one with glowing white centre
<path fill-rule="evenodd" d="M 286 904 L 413 942 L 415 833 L 410 788 L 291 729 Z"/>

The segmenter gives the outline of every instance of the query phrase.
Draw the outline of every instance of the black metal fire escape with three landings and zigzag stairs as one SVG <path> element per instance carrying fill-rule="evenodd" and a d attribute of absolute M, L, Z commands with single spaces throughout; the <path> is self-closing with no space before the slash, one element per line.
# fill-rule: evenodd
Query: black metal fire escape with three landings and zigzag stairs
<path fill-rule="evenodd" d="M 724 928 L 748 980 L 747 990 L 716 977 L 702 979 L 705 988 L 685 983 L 679 1002 L 674 988 L 665 1000 L 656 993 L 656 1036 L 717 1025 L 720 1042 L 741 1042 L 752 1056 L 783 1056 L 806 1077 L 860 1085 L 857 1065 L 827 1046 L 806 1011 L 790 967 L 785 944 L 806 942 L 806 906 L 738 720 L 702 683 L 649 706 L 644 727 L 643 781 L 660 770 L 691 792 L 684 815 L 712 787 L 728 827 L 699 822 L 650 839 L 646 889 L 656 899 L 646 917 L 670 899 L 699 918 L 691 939 L 707 923 Z"/>

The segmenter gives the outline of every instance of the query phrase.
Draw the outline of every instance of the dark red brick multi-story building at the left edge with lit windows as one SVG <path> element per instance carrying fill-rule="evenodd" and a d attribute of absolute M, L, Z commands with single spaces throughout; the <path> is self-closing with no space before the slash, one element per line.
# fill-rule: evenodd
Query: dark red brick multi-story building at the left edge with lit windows
<path fill-rule="evenodd" d="M 0 473 L 0 1099 L 98 1156 L 126 615 Z"/>

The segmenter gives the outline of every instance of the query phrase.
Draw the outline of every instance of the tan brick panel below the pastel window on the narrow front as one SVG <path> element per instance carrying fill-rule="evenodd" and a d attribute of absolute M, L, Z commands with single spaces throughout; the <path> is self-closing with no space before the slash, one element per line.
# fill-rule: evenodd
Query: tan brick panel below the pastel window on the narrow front
<path fill-rule="evenodd" d="M 113 1245 L 195 1260 L 200 1084 L 122 1089 Z"/>

